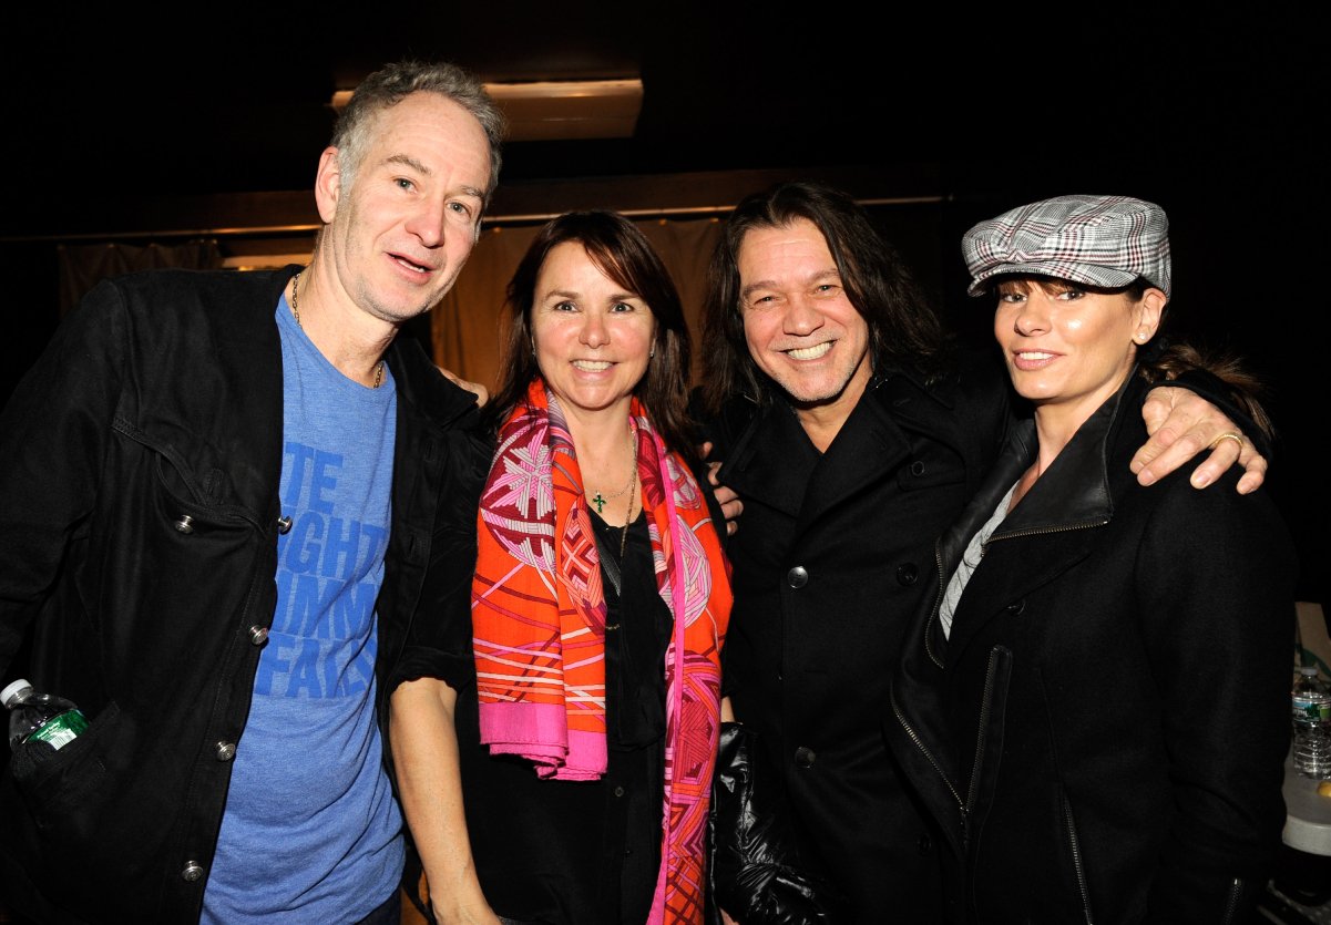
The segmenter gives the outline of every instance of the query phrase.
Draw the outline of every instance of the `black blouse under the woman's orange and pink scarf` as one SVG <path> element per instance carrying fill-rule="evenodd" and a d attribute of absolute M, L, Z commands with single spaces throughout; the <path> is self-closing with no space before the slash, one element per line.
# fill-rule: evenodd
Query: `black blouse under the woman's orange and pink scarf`
<path fill-rule="evenodd" d="M 622 527 L 592 514 L 618 556 Z M 479 744 L 476 692 L 458 695 L 467 828 L 486 900 L 520 922 L 638 925 L 660 866 L 666 647 L 671 616 L 656 591 L 647 520 L 630 526 L 622 590 L 604 563 L 607 771 L 595 781 L 540 780 L 528 761 Z M 612 628 L 616 627 L 616 628 Z"/>

